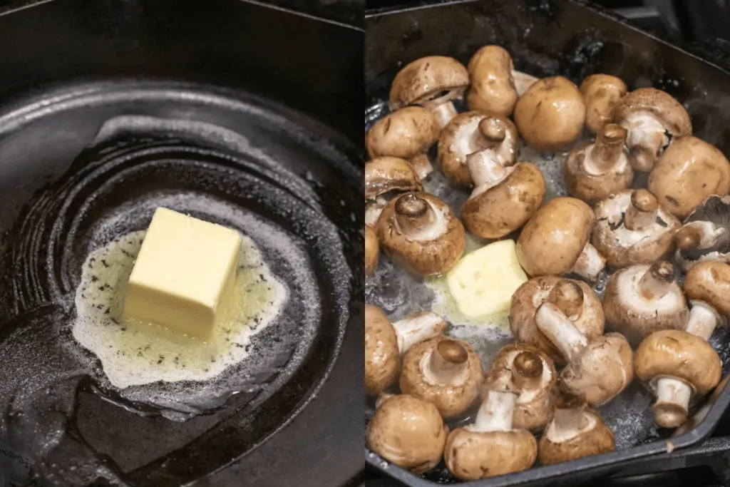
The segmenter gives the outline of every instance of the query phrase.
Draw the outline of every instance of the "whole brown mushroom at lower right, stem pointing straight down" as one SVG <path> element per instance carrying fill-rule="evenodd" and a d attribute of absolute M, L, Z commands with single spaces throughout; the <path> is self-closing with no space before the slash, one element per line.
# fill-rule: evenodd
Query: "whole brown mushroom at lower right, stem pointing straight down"
<path fill-rule="evenodd" d="M 662 428 L 687 421 L 691 397 L 718 385 L 721 366 L 718 353 L 700 337 L 681 330 L 650 334 L 637 349 L 636 372 L 656 394 L 654 421 Z"/>

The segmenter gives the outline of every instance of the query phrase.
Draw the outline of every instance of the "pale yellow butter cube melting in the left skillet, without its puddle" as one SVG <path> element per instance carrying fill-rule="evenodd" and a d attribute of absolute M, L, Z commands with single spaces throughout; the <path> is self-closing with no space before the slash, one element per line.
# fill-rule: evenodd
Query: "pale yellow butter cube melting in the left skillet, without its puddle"
<path fill-rule="evenodd" d="M 240 250 L 236 231 L 158 208 L 129 277 L 124 316 L 209 340 L 233 299 Z"/>

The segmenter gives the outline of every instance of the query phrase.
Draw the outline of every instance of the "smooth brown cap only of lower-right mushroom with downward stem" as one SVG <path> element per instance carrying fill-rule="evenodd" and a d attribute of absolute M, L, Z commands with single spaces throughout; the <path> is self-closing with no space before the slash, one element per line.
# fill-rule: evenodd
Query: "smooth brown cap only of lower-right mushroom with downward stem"
<path fill-rule="evenodd" d="M 718 385 L 722 362 L 715 349 L 686 331 L 661 330 L 641 342 L 634 357 L 639 379 L 656 388 L 656 380 L 674 377 L 684 380 L 694 394 L 707 394 Z"/>

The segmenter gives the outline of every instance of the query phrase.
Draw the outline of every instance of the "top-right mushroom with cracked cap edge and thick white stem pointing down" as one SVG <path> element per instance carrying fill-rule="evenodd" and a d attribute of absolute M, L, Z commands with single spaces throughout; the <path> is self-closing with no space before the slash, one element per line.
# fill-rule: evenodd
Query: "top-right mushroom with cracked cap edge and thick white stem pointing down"
<path fill-rule="evenodd" d="M 629 131 L 629 162 L 650 172 L 656 158 L 672 139 L 692 135 L 692 122 L 679 101 L 656 88 L 639 88 L 616 105 L 613 121 Z M 650 191 L 658 196 L 653 188 Z"/>

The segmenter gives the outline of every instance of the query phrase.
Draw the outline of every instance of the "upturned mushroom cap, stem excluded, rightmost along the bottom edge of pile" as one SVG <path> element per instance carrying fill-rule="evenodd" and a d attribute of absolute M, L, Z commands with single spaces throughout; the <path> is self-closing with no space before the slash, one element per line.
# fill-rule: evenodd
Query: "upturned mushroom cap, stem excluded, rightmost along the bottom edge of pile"
<path fill-rule="evenodd" d="M 539 460 L 543 465 L 561 464 L 585 456 L 610 453 L 615 449 L 613 432 L 593 411 L 586 410 L 584 427 L 571 438 L 556 436 L 555 423 L 550 423 L 540 439 Z"/>

